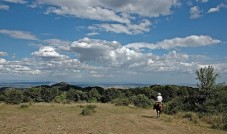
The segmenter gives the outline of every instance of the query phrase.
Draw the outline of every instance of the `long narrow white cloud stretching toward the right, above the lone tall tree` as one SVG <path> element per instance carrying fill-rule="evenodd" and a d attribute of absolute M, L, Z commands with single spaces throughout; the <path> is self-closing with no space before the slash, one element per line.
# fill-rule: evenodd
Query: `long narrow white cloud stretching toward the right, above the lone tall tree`
<path fill-rule="evenodd" d="M 141 48 L 148 49 L 172 49 L 177 47 L 199 47 L 199 46 L 208 46 L 221 43 L 220 40 L 213 39 L 208 35 L 190 35 L 184 38 L 173 38 L 166 39 L 158 43 L 131 43 L 126 45 L 128 48 L 133 48 L 135 50 Z"/>

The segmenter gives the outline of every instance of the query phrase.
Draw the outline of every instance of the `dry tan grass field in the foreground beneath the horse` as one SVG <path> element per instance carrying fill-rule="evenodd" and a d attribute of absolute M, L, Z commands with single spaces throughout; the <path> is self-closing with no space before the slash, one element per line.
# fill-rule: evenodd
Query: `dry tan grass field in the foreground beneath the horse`
<path fill-rule="evenodd" d="M 224 134 L 201 124 L 162 115 L 156 118 L 155 111 L 136 107 L 96 105 L 96 112 L 80 115 L 81 103 L 56 104 L 35 103 L 21 105 L 0 103 L 1 134 L 8 133 L 53 133 L 53 134 Z"/>

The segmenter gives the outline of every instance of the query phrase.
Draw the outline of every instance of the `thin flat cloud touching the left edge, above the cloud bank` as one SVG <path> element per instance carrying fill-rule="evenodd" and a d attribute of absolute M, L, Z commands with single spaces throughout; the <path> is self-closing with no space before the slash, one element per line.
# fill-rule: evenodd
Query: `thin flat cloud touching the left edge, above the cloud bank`
<path fill-rule="evenodd" d="M 38 40 L 38 38 L 26 31 L 0 29 L 0 34 L 8 35 L 16 39 Z"/>

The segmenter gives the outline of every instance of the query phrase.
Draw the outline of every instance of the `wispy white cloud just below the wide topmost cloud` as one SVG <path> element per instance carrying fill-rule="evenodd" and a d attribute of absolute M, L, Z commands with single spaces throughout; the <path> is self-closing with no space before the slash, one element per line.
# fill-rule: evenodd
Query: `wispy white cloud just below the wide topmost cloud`
<path fill-rule="evenodd" d="M 140 24 L 97 24 L 90 29 L 100 29 L 107 32 L 125 33 L 125 34 L 141 34 L 150 31 L 151 22 L 143 20 Z"/>

